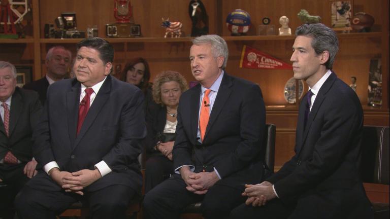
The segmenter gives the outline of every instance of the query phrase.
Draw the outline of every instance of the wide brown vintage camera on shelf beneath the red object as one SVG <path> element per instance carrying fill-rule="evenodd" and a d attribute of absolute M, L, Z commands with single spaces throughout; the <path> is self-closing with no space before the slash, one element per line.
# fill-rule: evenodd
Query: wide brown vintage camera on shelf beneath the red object
<path fill-rule="evenodd" d="M 141 36 L 141 25 L 131 23 L 106 24 L 106 35 L 110 38 Z"/>

